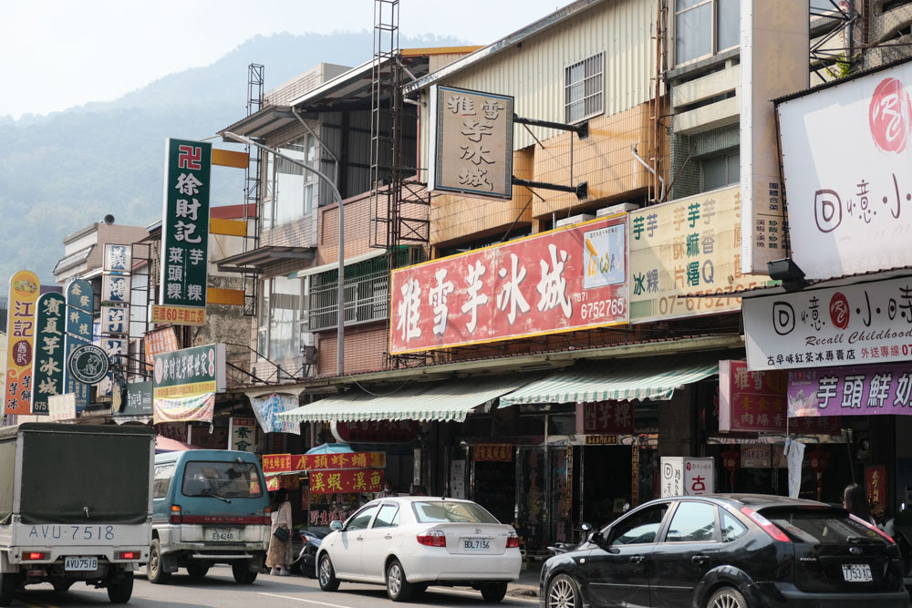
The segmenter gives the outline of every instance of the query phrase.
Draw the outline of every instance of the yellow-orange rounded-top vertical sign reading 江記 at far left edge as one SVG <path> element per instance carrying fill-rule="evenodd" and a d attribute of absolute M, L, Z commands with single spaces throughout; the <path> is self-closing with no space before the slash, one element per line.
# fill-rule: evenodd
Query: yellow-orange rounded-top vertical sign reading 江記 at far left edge
<path fill-rule="evenodd" d="M 35 309 L 38 277 L 21 270 L 9 279 L 6 319 L 5 414 L 31 413 L 32 356 L 35 348 Z"/>

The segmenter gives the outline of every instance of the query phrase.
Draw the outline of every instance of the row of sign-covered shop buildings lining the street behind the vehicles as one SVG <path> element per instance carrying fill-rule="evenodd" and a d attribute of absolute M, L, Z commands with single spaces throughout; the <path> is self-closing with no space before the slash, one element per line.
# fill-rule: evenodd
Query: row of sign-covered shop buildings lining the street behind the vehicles
<path fill-rule="evenodd" d="M 912 525 L 912 5 L 577 0 L 406 48 L 374 4 L 362 64 L 251 64 L 215 139 L 173 134 L 160 222 L 67 236 L 41 292 L 98 382 L 42 393 L 36 333 L 11 388 L 11 279 L 8 423 L 251 452 L 314 530 L 384 482 L 473 500 L 523 563 L 669 496 L 858 484 Z"/>

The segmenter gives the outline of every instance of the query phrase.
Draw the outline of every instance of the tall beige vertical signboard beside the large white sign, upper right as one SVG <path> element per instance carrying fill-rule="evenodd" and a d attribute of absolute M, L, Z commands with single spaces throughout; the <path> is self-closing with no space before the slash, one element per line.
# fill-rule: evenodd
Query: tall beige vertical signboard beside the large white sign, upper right
<path fill-rule="evenodd" d="M 741 0 L 741 273 L 788 251 L 771 99 L 808 86 L 808 14 L 807 0 Z"/>

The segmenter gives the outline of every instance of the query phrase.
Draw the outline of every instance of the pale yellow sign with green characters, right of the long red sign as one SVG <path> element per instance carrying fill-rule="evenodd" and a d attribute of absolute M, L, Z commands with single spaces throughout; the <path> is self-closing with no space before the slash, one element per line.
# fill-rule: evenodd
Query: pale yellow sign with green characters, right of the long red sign
<path fill-rule="evenodd" d="M 732 292 L 772 283 L 741 274 L 737 186 L 633 211 L 629 222 L 630 323 L 738 310 Z M 784 232 L 768 222 L 769 231 Z"/>

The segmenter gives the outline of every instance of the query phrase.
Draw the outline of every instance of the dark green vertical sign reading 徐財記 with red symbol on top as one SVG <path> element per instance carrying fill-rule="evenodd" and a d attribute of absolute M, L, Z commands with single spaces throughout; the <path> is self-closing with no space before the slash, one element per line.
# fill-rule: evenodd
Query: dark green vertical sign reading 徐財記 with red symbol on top
<path fill-rule="evenodd" d="M 212 144 L 168 139 L 161 220 L 159 304 L 206 306 Z M 154 319 L 153 319 L 154 320 Z M 173 319 L 180 325 L 187 319 Z"/>

